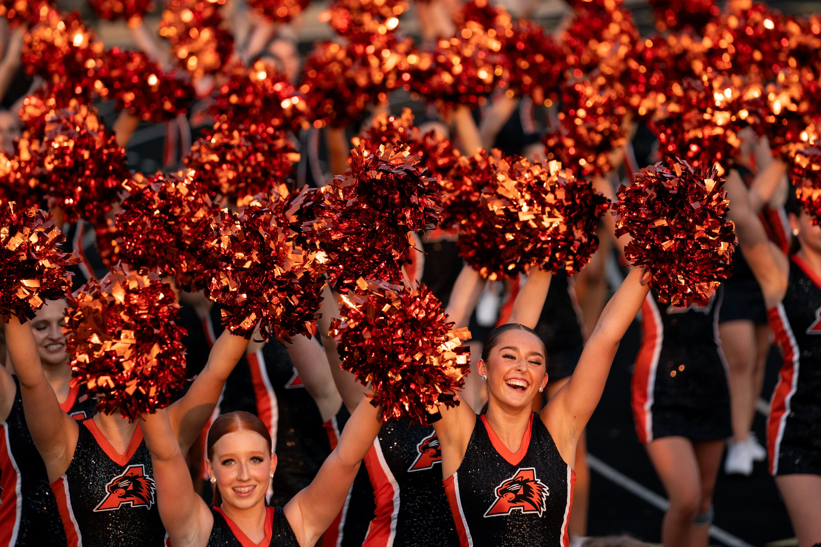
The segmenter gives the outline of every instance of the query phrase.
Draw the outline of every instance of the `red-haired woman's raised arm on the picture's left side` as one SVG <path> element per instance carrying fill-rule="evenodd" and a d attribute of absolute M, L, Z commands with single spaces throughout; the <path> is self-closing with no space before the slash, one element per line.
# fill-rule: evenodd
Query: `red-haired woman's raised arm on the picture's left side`
<path fill-rule="evenodd" d="M 140 417 L 145 445 L 151 453 L 157 508 L 176 547 L 200 547 L 208 542 L 213 515 L 194 491 L 177 435 L 163 410 Z"/>

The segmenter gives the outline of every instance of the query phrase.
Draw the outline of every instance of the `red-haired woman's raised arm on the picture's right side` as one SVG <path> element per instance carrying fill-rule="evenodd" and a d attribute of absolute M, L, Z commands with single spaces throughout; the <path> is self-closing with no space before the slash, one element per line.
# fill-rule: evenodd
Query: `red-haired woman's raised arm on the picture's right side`
<path fill-rule="evenodd" d="M 382 427 L 380 409 L 363 398 L 348 420 L 337 448 L 319 468 L 310 485 L 285 506 L 285 516 L 300 545 L 314 545 L 337 517 L 356 472 Z"/>

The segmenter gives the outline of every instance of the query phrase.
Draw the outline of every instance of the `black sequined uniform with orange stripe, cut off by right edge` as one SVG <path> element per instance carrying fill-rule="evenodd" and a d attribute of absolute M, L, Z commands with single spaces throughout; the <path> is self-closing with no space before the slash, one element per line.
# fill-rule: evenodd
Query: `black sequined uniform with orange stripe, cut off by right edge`
<path fill-rule="evenodd" d="M 767 423 L 770 472 L 821 475 L 821 278 L 797 255 L 768 313 L 784 356 Z"/>

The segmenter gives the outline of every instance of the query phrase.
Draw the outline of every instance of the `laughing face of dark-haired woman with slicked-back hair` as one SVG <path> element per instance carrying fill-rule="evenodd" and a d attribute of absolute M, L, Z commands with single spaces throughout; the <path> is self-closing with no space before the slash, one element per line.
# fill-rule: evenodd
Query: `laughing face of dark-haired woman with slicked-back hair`
<path fill-rule="evenodd" d="M 530 329 L 508 327 L 485 345 L 477 366 L 479 375 L 488 377 L 489 407 L 530 408 L 548 383 L 544 342 Z"/>

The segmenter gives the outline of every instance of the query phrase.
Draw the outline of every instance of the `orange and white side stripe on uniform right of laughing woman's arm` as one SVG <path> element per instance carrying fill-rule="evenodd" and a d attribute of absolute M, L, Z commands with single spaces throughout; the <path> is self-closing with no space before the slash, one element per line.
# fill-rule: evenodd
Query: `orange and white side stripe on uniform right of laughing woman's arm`
<path fill-rule="evenodd" d="M 658 306 L 653 294 L 647 295 L 641 305 L 641 327 L 644 338 L 639 354 L 635 357 L 635 370 L 631 382 L 631 407 L 635 419 L 635 432 L 639 441 L 647 444 L 653 440 L 653 389 L 658 367 L 658 353 L 664 338 Z"/>

